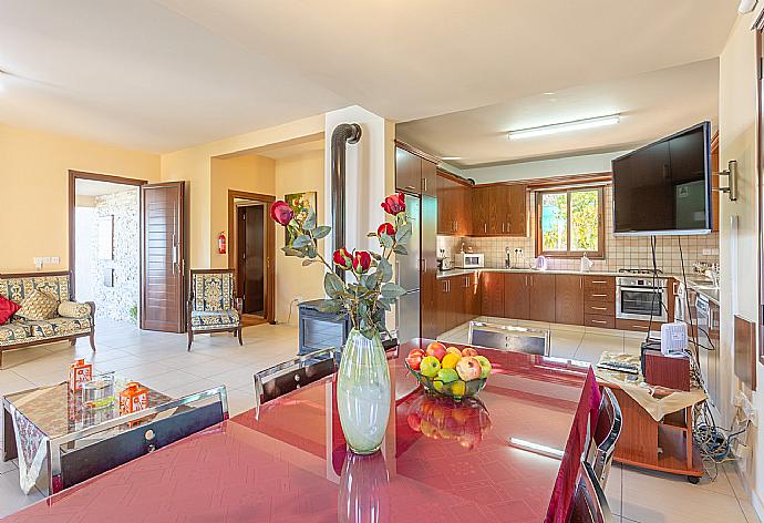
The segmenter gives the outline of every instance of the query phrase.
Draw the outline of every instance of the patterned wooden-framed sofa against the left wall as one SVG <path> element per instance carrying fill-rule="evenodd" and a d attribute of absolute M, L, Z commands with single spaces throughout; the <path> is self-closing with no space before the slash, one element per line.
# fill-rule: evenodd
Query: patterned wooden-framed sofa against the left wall
<path fill-rule="evenodd" d="M 23 308 L 0 325 L 0 367 L 6 350 L 87 336 L 95 351 L 95 304 L 75 302 L 70 271 L 0 275 L 0 296 L 22 305 L 35 290 L 58 301 L 47 319 L 21 317 Z M 63 314 L 63 315 L 62 315 Z"/>

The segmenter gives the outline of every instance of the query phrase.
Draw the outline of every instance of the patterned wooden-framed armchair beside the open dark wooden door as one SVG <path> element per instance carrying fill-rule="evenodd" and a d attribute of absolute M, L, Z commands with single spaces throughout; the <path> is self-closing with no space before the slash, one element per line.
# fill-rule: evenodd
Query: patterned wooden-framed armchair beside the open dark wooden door
<path fill-rule="evenodd" d="M 234 269 L 195 269 L 188 285 L 188 350 L 195 334 L 233 332 L 241 342 L 241 298 Z"/>

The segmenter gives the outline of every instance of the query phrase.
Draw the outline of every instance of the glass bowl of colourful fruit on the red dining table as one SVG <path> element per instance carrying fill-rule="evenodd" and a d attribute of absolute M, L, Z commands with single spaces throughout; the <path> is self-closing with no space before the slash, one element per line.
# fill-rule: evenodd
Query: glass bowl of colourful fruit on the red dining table
<path fill-rule="evenodd" d="M 430 343 L 426 351 L 413 349 L 405 366 L 427 392 L 456 401 L 483 390 L 491 373 L 491 362 L 475 349 L 446 349 L 438 341 Z"/>

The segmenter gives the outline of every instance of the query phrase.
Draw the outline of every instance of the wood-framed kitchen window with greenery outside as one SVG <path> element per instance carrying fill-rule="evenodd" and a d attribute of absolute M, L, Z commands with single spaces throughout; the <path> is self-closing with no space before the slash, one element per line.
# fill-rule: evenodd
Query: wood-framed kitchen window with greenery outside
<path fill-rule="evenodd" d="M 602 188 L 536 193 L 536 256 L 605 257 Z"/>

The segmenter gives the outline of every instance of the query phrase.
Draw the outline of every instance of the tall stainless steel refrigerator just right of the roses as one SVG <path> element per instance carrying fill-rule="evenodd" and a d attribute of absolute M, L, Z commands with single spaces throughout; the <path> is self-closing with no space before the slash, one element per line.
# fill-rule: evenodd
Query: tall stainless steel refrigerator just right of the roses
<path fill-rule="evenodd" d="M 406 294 L 398 300 L 395 309 L 398 324 L 398 340 L 403 343 L 420 337 L 420 260 L 422 216 L 421 202 L 416 195 L 406 194 L 406 212 L 412 218 L 411 239 L 406 248 L 409 255 L 395 256 L 395 274 L 398 285 L 406 289 Z"/>

